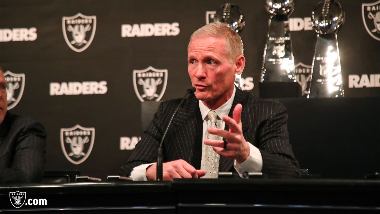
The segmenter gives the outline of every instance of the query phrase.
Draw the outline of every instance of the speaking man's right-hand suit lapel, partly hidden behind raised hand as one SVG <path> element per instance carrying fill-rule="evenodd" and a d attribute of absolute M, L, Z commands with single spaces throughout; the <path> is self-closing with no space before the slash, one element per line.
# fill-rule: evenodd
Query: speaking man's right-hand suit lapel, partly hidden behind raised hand
<path fill-rule="evenodd" d="M 235 93 L 235 97 L 234 97 L 234 102 L 231 106 L 231 110 L 230 112 L 228 113 L 228 117 L 233 117 L 233 111 L 235 109 L 235 106 L 236 104 L 240 103 L 242 104 L 243 102 L 245 101 L 245 94 L 244 94 L 244 91 L 240 90 L 239 88 L 236 87 L 236 93 Z M 243 109 L 241 111 L 241 123 L 242 123 L 242 130 L 243 130 L 243 136 L 245 139 L 247 139 L 247 135 L 248 135 L 248 123 L 247 123 L 247 120 L 245 118 L 245 110 L 244 110 L 244 105 L 243 105 Z M 225 130 L 230 130 L 230 127 L 226 124 L 225 127 L 224 127 Z M 234 160 L 228 160 L 226 157 L 224 156 L 220 156 L 220 160 L 219 160 L 219 171 L 220 172 L 227 172 L 227 171 L 230 171 L 230 169 L 232 168 L 234 164 Z"/>

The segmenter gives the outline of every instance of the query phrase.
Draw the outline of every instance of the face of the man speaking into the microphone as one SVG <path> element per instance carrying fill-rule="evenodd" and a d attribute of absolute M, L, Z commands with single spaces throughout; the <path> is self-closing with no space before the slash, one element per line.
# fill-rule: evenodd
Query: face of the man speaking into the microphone
<path fill-rule="evenodd" d="M 234 87 L 236 66 L 226 55 L 225 38 L 195 38 L 188 47 L 187 62 L 197 99 L 215 102 L 229 98 L 226 92 Z"/>

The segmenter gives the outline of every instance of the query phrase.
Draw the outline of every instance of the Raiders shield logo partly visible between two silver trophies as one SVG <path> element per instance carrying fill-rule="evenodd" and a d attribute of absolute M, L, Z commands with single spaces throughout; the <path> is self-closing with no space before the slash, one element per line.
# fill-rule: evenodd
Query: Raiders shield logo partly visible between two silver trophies
<path fill-rule="evenodd" d="M 312 66 L 298 62 L 294 67 L 296 80 L 302 86 L 302 96 L 307 96 L 310 92 Z"/>

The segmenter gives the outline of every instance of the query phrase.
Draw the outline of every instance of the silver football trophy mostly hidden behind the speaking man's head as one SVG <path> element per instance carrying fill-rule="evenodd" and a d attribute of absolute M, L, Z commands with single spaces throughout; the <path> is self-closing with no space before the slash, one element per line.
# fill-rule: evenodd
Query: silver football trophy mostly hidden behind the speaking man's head
<path fill-rule="evenodd" d="M 237 5 L 231 3 L 225 3 L 220 6 L 215 13 L 213 21 L 228 24 L 239 35 L 245 26 L 243 11 Z M 242 89 L 241 75 L 235 75 L 235 85 Z"/>

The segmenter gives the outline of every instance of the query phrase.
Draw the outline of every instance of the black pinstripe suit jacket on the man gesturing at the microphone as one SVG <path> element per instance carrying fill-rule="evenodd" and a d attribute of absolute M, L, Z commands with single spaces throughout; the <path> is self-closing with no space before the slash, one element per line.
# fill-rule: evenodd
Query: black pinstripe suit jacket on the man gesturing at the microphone
<path fill-rule="evenodd" d="M 119 170 L 128 176 L 133 168 L 157 160 L 157 150 L 168 121 L 180 99 L 162 102 L 141 141 Z M 287 119 L 283 105 L 254 97 L 252 93 L 236 88 L 234 102 L 228 116 L 232 117 L 236 104 L 242 104 L 242 130 L 246 141 L 257 147 L 263 157 L 262 172 L 268 177 L 298 177 L 299 166 L 289 144 Z M 229 127 L 226 124 L 225 129 Z M 188 97 L 174 117 L 164 142 L 164 162 L 183 159 L 200 169 L 203 119 L 195 95 Z M 220 156 L 219 171 L 235 172 L 233 160 Z"/>

